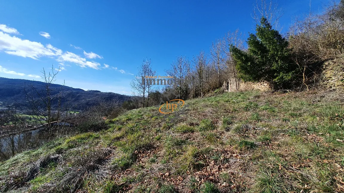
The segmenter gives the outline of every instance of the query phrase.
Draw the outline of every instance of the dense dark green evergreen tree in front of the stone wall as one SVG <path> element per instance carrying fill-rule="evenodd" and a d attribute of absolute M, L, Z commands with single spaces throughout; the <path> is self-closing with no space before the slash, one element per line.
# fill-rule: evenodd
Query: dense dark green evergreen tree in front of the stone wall
<path fill-rule="evenodd" d="M 296 69 L 291 60 L 288 41 L 272 29 L 266 18 L 257 24 L 256 34 L 247 39 L 248 50 L 230 45 L 233 58 L 237 61 L 239 77 L 244 81 L 267 81 L 274 89 L 290 85 Z"/>

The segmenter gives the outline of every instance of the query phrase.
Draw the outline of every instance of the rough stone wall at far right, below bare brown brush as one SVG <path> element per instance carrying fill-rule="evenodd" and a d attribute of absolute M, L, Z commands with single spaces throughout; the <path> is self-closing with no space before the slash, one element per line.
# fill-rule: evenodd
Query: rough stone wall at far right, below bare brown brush
<path fill-rule="evenodd" d="M 324 64 L 320 84 L 328 89 L 344 91 L 344 56 Z"/>

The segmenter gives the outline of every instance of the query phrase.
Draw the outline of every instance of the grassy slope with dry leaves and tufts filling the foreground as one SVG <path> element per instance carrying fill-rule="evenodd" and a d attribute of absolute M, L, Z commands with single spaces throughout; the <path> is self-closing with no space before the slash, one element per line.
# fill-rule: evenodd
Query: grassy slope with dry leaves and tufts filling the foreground
<path fill-rule="evenodd" d="M 224 93 L 186 101 L 175 124 L 132 110 L 2 162 L 0 192 L 341 192 L 344 108 L 331 100 Z"/>

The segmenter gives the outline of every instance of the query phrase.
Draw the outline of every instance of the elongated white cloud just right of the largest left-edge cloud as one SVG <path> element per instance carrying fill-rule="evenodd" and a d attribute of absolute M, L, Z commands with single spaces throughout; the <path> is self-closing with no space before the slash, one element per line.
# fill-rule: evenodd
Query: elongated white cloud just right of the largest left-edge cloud
<path fill-rule="evenodd" d="M 94 69 L 99 69 L 98 66 L 100 66 L 99 63 L 95 61 L 87 61 L 85 58 L 82 58 L 72 52 L 65 52 L 61 56 L 58 57 L 57 61 L 67 61 L 71 63 L 75 63 L 76 65 L 80 67 L 90 67 Z"/>

